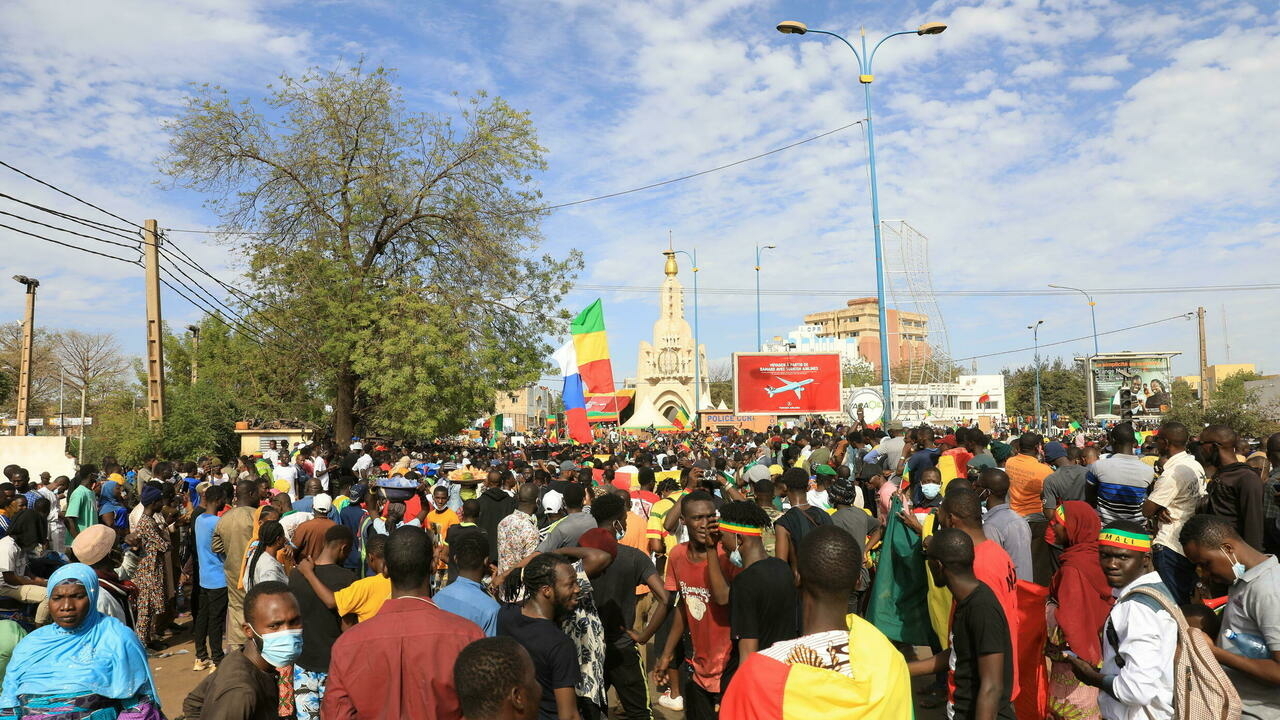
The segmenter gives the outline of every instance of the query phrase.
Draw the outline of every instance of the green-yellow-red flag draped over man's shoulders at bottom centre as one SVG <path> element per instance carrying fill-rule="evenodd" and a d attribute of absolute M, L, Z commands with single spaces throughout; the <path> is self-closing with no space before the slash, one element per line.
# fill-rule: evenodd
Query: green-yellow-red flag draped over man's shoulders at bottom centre
<path fill-rule="evenodd" d="M 753 652 L 733 675 L 721 717 L 813 720 L 874 717 L 910 720 L 911 678 L 906 660 L 874 625 L 849 615 L 850 675 L 819 667 L 823 659 L 792 648 L 786 661 Z"/>

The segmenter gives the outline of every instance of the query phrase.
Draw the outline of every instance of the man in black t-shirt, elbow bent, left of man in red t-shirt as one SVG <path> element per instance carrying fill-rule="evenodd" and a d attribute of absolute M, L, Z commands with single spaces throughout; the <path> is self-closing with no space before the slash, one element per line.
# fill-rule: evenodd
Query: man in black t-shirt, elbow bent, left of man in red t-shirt
<path fill-rule="evenodd" d="M 602 495 L 591 501 L 591 518 L 596 527 L 621 541 L 626 536 L 627 502 L 614 493 Z M 640 632 L 632 630 L 637 585 L 645 585 L 654 598 L 654 610 Z M 646 553 L 618 542 L 613 562 L 591 579 L 591 597 L 604 625 L 604 684 L 618 694 L 623 717 L 652 717 L 640 648 L 667 619 L 669 594 L 662 584 L 662 575 Z"/>

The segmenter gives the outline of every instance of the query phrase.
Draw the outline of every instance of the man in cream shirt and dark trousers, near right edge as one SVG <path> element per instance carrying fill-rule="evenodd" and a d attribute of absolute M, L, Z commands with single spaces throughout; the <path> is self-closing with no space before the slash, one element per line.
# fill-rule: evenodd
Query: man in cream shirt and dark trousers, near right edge
<path fill-rule="evenodd" d="M 1187 452 L 1188 439 L 1190 433 L 1187 425 L 1172 421 L 1160 425 L 1156 447 L 1160 456 L 1167 460 L 1151 487 L 1151 495 L 1142 503 L 1142 514 L 1158 524 L 1152 541 L 1152 562 L 1178 605 L 1190 602 L 1196 589 L 1196 566 L 1187 559 L 1178 533 L 1196 514 L 1204 492 L 1204 468 Z"/>

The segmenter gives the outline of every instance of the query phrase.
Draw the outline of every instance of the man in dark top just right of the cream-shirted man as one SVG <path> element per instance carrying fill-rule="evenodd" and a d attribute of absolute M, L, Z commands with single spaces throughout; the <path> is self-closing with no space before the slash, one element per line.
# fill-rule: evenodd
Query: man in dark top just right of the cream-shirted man
<path fill-rule="evenodd" d="M 1239 436 L 1226 425 L 1201 430 L 1196 459 L 1212 479 L 1206 488 L 1206 512 L 1226 518 L 1244 542 L 1262 551 L 1265 510 L 1262 477 L 1235 455 Z"/>

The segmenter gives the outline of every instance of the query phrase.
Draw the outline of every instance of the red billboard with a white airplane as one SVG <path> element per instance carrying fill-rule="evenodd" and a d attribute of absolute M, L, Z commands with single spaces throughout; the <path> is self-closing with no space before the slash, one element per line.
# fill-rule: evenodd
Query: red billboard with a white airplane
<path fill-rule="evenodd" d="M 739 415 L 841 413 L 840 354 L 735 352 Z"/>

